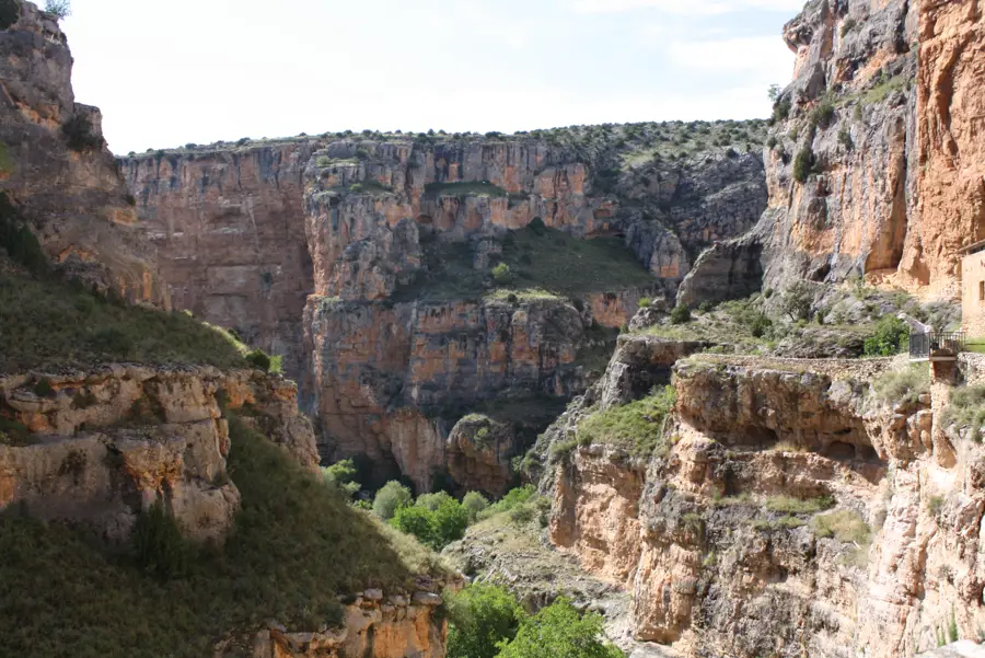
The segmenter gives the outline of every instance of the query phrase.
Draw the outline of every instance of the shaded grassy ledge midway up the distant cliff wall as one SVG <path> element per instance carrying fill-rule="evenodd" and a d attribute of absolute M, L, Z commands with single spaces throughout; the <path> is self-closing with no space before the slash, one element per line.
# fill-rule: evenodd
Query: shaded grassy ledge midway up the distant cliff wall
<path fill-rule="evenodd" d="M 618 238 L 580 240 L 538 223 L 510 231 L 501 242 L 509 276 L 499 285 L 474 268 L 470 244 L 434 241 L 425 245 L 427 274 L 398 289 L 396 300 L 577 299 L 654 281 Z"/>

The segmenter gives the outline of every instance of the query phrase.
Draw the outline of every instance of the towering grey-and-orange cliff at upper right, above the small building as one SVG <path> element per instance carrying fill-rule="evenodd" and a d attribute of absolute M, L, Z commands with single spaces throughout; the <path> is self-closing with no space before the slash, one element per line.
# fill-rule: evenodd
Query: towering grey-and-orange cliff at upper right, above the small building
<path fill-rule="evenodd" d="M 959 251 L 985 231 L 980 8 L 812 0 L 784 38 L 797 66 L 765 153 L 769 210 L 729 255 L 776 289 L 865 275 L 955 297 Z M 723 255 L 697 288 L 734 276 Z"/>

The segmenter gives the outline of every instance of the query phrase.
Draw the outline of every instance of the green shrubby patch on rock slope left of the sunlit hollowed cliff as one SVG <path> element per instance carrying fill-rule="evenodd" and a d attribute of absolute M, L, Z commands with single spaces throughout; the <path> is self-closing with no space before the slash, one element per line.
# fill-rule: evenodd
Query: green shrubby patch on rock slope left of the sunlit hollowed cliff
<path fill-rule="evenodd" d="M 663 448 L 664 425 L 674 408 L 676 391 L 664 386 L 648 397 L 598 412 L 578 426 L 578 441 L 621 447 L 637 457 Z"/>

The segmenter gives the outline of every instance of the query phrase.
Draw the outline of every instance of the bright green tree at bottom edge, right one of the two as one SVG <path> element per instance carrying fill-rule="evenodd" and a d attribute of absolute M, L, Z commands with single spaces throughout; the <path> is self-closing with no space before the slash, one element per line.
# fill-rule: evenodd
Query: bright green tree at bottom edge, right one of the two
<path fill-rule="evenodd" d="M 500 643 L 497 658 L 623 658 L 606 643 L 602 617 L 581 616 L 566 599 L 558 599 L 536 615 L 520 623 L 517 637 Z"/>

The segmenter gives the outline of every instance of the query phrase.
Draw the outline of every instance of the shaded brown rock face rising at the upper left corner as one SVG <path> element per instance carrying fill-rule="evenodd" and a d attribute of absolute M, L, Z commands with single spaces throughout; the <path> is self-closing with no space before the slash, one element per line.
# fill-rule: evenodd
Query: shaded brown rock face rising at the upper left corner
<path fill-rule="evenodd" d="M 59 269 L 166 307 L 100 111 L 74 102 L 66 36 L 53 15 L 19 4 L 19 20 L 0 30 L 0 192 L 21 207 Z"/>

